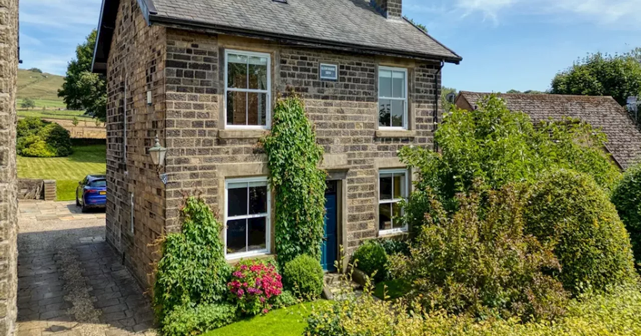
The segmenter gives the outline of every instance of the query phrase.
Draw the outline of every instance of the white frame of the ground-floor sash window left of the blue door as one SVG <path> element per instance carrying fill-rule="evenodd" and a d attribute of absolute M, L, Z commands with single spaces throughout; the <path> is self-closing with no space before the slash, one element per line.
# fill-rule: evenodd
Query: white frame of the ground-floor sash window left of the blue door
<path fill-rule="evenodd" d="M 233 183 L 251 183 L 251 182 L 265 182 L 267 186 L 267 212 L 263 214 L 245 214 L 242 216 L 228 216 L 229 211 L 229 184 Z M 225 180 L 225 213 L 224 213 L 224 252 L 225 259 L 233 260 L 246 257 L 254 257 L 257 255 L 267 255 L 271 251 L 271 193 L 269 192 L 269 182 L 267 177 L 247 177 L 242 179 L 226 179 Z M 249 207 L 249 199 L 247 200 L 247 207 Z M 248 211 L 249 212 L 249 211 Z M 237 253 L 227 253 L 227 222 L 233 220 L 246 220 L 251 218 L 265 218 L 265 248 L 263 250 L 249 251 L 249 252 L 237 252 Z M 249 230 L 246 230 L 246 235 L 249 234 Z"/>

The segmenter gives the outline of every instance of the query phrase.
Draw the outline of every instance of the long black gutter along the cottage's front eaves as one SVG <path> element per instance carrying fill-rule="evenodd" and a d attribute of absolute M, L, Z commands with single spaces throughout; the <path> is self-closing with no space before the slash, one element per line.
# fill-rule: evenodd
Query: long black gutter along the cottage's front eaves
<path fill-rule="evenodd" d="M 171 17 L 164 17 L 162 15 L 151 14 L 149 15 L 149 24 L 169 24 L 176 25 L 177 28 L 193 28 L 193 29 L 208 29 L 210 33 L 224 34 L 224 35 L 243 35 L 247 37 L 257 37 L 268 40 L 278 40 L 294 44 L 308 45 L 315 48 L 328 48 L 338 49 L 340 51 L 354 51 L 354 49 L 369 54 L 381 54 L 385 56 L 395 56 L 402 58 L 415 58 L 417 60 L 429 61 L 447 61 L 449 63 L 459 64 L 463 59 L 458 57 L 447 57 L 438 55 L 426 55 L 417 52 L 399 52 L 390 49 L 381 49 L 379 47 L 366 47 L 358 44 L 348 44 L 343 42 L 335 42 L 328 40 L 319 40 L 314 38 L 306 38 L 301 36 L 283 35 L 278 33 L 269 33 L 266 31 L 257 31 L 252 29 L 232 28 L 228 26 L 220 26 L 208 22 L 197 22 L 194 20 L 175 19 Z M 449 50 L 449 49 L 448 49 Z"/>

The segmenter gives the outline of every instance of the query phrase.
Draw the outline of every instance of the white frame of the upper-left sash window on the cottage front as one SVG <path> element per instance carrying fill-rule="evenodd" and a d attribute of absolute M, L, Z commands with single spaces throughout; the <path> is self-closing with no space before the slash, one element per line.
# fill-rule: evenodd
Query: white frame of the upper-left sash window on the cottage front
<path fill-rule="evenodd" d="M 238 55 L 243 55 L 243 56 L 259 56 L 259 57 L 266 57 L 267 58 L 267 90 L 258 90 L 258 89 L 250 89 L 249 85 L 247 85 L 248 88 L 246 89 L 241 89 L 241 88 L 228 88 L 227 85 L 229 84 L 229 67 L 228 67 L 228 61 L 229 61 L 229 54 L 238 54 Z M 272 111 L 271 111 L 271 104 L 272 104 L 272 99 L 271 99 L 271 88 L 272 88 L 272 67 L 271 67 L 271 54 L 267 54 L 265 52 L 253 52 L 253 51 L 242 51 L 242 50 L 234 50 L 234 49 L 226 49 L 225 50 L 225 92 L 224 92 L 224 115 L 225 115 L 225 122 L 224 122 L 224 128 L 225 129 L 270 129 L 271 124 L 272 124 Z M 249 79 L 248 79 L 249 80 Z M 227 93 L 228 92 L 248 92 L 248 93 L 266 93 L 267 94 L 267 106 L 265 106 L 265 125 L 228 125 L 227 124 Z M 246 101 L 246 104 L 249 104 L 248 101 Z M 245 108 L 245 113 L 249 113 L 249 106 L 246 106 Z M 246 116 L 246 120 L 249 119 L 249 116 Z"/>

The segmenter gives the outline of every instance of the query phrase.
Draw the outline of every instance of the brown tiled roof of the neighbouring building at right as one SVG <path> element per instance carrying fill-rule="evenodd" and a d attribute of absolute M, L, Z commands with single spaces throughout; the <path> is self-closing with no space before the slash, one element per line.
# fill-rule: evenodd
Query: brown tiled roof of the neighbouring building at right
<path fill-rule="evenodd" d="M 470 107 L 476 108 L 476 102 L 489 94 L 462 91 L 456 97 L 456 103 L 461 106 L 460 99 L 465 99 Z M 499 93 L 497 96 L 505 101 L 508 109 L 527 113 L 533 122 L 564 117 L 583 120 L 606 134 L 606 148 L 621 168 L 627 169 L 641 162 L 641 131 L 612 97 L 526 93 Z"/>

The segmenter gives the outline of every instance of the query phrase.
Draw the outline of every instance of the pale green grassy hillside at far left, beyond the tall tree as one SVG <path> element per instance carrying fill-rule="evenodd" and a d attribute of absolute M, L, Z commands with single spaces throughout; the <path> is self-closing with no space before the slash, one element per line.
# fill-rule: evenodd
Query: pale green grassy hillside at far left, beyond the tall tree
<path fill-rule="evenodd" d="M 40 100 L 40 106 L 36 102 L 36 106 L 40 108 L 42 106 L 64 108 L 65 104 L 62 102 L 62 98 L 58 97 L 58 89 L 62 88 L 64 82 L 65 77 L 62 76 L 18 69 L 17 100 L 20 103 L 22 99 L 31 98 Z"/>

